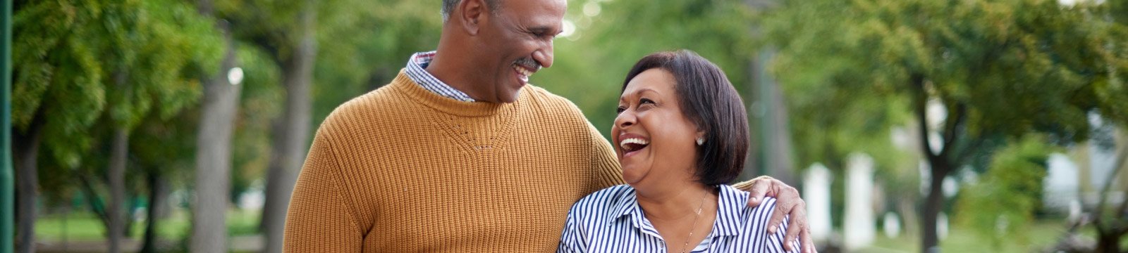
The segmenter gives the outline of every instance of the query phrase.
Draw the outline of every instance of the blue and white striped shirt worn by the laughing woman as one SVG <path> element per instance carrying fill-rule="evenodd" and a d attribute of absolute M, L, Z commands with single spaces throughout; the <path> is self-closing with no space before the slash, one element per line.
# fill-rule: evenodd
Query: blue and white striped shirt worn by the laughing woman
<path fill-rule="evenodd" d="M 707 247 L 694 252 L 787 252 L 783 250 L 787 219 L 775 234 L 767 223 L 775 198 L 748 207 L 748 192 L 721 186 L 716 220 L 706 236 Z M 799 252 L 799 240 L 788 242 Z M 704 251 L 700 251 L 704 250 Z M 666 242 L 643 215 L 631 186 L 610 187 L 580 199 L 567 214 L 557 253 L 567 252 L 667 252 Z M 675 250 L 677 251 L 677 250 Z"/>

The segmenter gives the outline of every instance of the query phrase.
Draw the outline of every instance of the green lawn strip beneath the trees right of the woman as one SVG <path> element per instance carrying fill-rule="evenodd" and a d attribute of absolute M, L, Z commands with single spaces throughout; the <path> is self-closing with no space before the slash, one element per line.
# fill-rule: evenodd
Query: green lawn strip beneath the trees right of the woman
<path fill-rule="evenodd" d="M 1001 252 L 1001 253 L 1028 253 L 1042 252 L 1047 247 L 1057 244 L 1066 233 L 1065 222 L 1061 220 L 1038 220 L 1030 226 L 1026 234 L 1026 242 L 1017 240 L 1004 240 L 996 249 L 989 238 L 960 226 L 952 226 L 948 238 L 940 242 L 942 252 Z M 1082 236 L 1094 238 L 1096 233 L 1092 227 L 1084 228 Z M 901 234 L 899 237 L 889 238 L 883 233 L 878 232 L 878 237 L 873 244 L 858 252 L 919 252 L 920 238 L 916 235 Z"/>

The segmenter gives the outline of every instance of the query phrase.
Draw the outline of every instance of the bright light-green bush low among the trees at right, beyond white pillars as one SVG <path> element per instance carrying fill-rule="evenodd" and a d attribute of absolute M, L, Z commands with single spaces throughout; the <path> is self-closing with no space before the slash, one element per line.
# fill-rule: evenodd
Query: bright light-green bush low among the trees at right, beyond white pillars
<path fill-rule="evenodd" d="M 978 182 L 960 191 L 957 222 L 999 249 L 1004 241 L 1030 243 L 1028 228 L 1041 207 L 1047 159 L 1056 148 L 1031 135 L 1011 142 L 990 162 Z M 990 208 L 985 208 L 990 207 Z"/>

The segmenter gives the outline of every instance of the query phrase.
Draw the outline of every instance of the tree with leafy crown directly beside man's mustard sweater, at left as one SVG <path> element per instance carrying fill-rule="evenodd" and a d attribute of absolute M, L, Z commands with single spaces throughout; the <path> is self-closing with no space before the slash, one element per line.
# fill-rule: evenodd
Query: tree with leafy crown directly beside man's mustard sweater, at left
<path fill-rule="evenodd" d="M 219 16 L 231 21 L 236 39 L 266 52 L 281 70 L 287 97 L 271 130 L 273 150 L 261 224 L 266 235 L 265 251 L 279 252 L 290 192 L 314 127 L 341 102 L 389 81 L 409 53 L 433 48 L 441 20 L 439 2 L 331 0 L 282 4 L 231 0 L 215 4 Z M 317 47 L 321 44 L 332 46 Z"/>

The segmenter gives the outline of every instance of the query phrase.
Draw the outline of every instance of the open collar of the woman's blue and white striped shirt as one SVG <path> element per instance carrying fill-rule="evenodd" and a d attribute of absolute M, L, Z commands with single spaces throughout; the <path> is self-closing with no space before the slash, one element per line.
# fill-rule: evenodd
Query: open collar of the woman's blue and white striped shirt
<path fill-rule="evenodd" d="M 748 207 L 748 193 L 730 186 L 720 186 L 719 188 L 721 190 L 717 198 L 717 218 L 713 224 L 713 235 L 740 235 L 742 229 L 740 229 L 741 225 L 739 223 L 747 220 L 743 208 Z M 638 207 L 638 199 L 635 196 L 634 188 L 629 188 L 625 195 L 618 197 L 618 201 L 614 201 L 615 206 L 611 208 L 614 211 L 610 213 L 610 217 L 607 219 L 608 226 L 611 223 L 616 223 L 623 216 L 631 216 L 631 223 L 635 228 L 638 228 L 643 233 L 661 237 L 658 235 L 658 229 L 650 224 L 650 220 L 643 217 L 642 207 Z"/>

